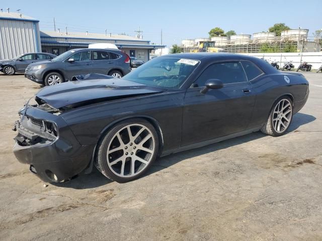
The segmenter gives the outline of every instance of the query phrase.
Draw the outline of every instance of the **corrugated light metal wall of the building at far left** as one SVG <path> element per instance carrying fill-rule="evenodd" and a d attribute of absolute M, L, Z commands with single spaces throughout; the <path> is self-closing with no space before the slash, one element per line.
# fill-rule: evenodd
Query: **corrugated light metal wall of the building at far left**
<path fill-rule="evenodd" d="M 0 19 L 0 59 L 30 52 L 41 52 L 38 23 Z"/>

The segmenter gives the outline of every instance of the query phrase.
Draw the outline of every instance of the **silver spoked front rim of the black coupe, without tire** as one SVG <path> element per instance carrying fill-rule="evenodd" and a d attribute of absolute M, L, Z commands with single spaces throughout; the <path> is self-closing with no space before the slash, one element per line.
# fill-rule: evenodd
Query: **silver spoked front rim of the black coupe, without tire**
<path fill-rule="evenodd" d="M 133 177 L 141 173 L 153 158 L 155 139 L 141 124 L 130 124 L 120 129 L 107 147 L 109 169 L 119 177 Z"/>

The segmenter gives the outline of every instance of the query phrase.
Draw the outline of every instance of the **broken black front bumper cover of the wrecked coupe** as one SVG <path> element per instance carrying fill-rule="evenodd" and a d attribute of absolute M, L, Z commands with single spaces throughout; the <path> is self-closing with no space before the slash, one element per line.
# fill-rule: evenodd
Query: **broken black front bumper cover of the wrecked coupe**
<path fill-rule="evenodd" d="M 26 114 L 37 119 L 48 119 L 48 115 L 53 115 L 36 108 L 28 108 Z M 59 132 L 57 139 L 37 137 L 35 140 L 38 143 L 34 145 L 26 145 L 21 141 L 27 139 L 26 136 L 37 136 L 37 133 L 26 131 L 26 127 L 16 122 L 19 134 L 15 138 L 13 152 L 19 162 L 29 164 L 30 170 L 45 182 L 60 182 L 81 173 L 89 165 L 95 148 L 79 144 L 63 119 L 53 116 Z"/>

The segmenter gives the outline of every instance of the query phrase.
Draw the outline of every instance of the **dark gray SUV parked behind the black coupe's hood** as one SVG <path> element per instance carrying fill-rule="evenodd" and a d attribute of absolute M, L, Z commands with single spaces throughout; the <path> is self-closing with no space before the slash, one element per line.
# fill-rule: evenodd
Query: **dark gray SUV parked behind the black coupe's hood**
<path fill-rule="evenodd" d="M 50 61 L 30 64 L 25 77 L 39 84 L 53 85 L 75 75 L 98 73 L 121 78 L 131 71 L 130 57 L 117 49 L 73 49 Z"/>

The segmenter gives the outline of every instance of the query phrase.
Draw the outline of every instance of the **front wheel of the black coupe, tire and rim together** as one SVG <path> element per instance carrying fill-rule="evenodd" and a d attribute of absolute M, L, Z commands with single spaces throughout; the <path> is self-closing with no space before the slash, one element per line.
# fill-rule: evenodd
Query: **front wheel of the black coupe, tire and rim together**
<path fill-rule="evenodd" d="M 95 165 L 107 178 L 128 182 L 143 175 L 158 153 L 158 135 L 144 119 L 120 122 L 101 139 Z"/>

